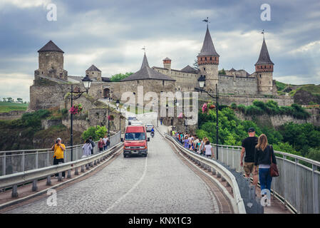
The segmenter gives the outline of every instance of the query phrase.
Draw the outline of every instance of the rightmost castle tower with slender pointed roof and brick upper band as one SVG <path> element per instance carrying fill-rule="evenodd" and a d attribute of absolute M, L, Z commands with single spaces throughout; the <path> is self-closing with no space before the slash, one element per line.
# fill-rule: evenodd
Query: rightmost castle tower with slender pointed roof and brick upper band
<path fill-rule="evenodd" d="M 274 63 L 272 63 L 266 41 L 262 42 L 260 56 L 256 64 L 258 93 L 264 95 L 272 95 L 273 81 L 272 74 L 274 72 Z"/>

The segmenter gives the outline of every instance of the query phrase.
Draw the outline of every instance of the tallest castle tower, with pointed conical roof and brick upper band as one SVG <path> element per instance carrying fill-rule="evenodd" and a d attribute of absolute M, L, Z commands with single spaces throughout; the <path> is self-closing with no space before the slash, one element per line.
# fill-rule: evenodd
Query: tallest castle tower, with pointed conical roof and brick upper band
<path fill-rule="evenodd" d="M 213 45 L 207 26 L 205 41 L 203 41 L 201 51 L 197 56 L 200 75 L 205 76 L 205 90 L 215 90 L 215 84 L 218 83 L 219 57 L 219 54 L 215 51 L 215 46 Z"/>

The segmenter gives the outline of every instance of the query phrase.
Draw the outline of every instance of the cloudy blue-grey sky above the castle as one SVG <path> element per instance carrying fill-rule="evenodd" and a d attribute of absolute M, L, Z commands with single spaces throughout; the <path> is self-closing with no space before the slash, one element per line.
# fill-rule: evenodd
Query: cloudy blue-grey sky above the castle
<path fill-rule="evenodd" d="M 47 9 L 56 6 L 56 21 Z M 270 21 L 262 21 L 262 4 Z M 29 101 L 38 49 L 52 40 L 64 53 L 70 76 L 94 64 L 103 77 L 138 71 L 143 46 L 150 67 L 172 59 L 173 69 L 192 66 L 209 29 L 219 69 L 254 72 L 262 29 L 274 62 L 274 79 L 320 83 L 319 0 L 1 0 L 0 99 Z"/>

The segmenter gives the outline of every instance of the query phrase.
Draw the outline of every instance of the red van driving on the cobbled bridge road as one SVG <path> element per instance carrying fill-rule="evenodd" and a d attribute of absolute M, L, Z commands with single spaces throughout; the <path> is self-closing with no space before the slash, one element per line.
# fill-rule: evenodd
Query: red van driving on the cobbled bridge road
<path fill-rule="evenodd" d="M 123 142 L 123 138 L 121 138 Z M 144 125 L 129 125 L 125 129 L 125 145 L 123 145 L 123 157 L 127 155 L 143 155 L 148 154 L 147 131 Z"/>

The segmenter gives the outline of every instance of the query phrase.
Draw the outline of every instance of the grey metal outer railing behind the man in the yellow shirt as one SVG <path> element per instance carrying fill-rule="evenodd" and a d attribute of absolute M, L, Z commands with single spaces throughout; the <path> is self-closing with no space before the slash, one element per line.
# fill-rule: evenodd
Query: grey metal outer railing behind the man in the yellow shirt
<path fill-rule="evenodd" d="M 109 137 L 110 147 L 120 142 L 120 132 Z M 73 161 L 81 159 L 83 145 L 73 145 Z M 66 147 L 64 162 L 71 161 L 71 146 Z M 93 155 L 98 153 L 98 141 L 93 147 Z M 53 165 L 53 151 L 51 148 L 35 150 L 8 150 L 0 151 L 0 176 L 16 172 L 36 170 Z"/>

